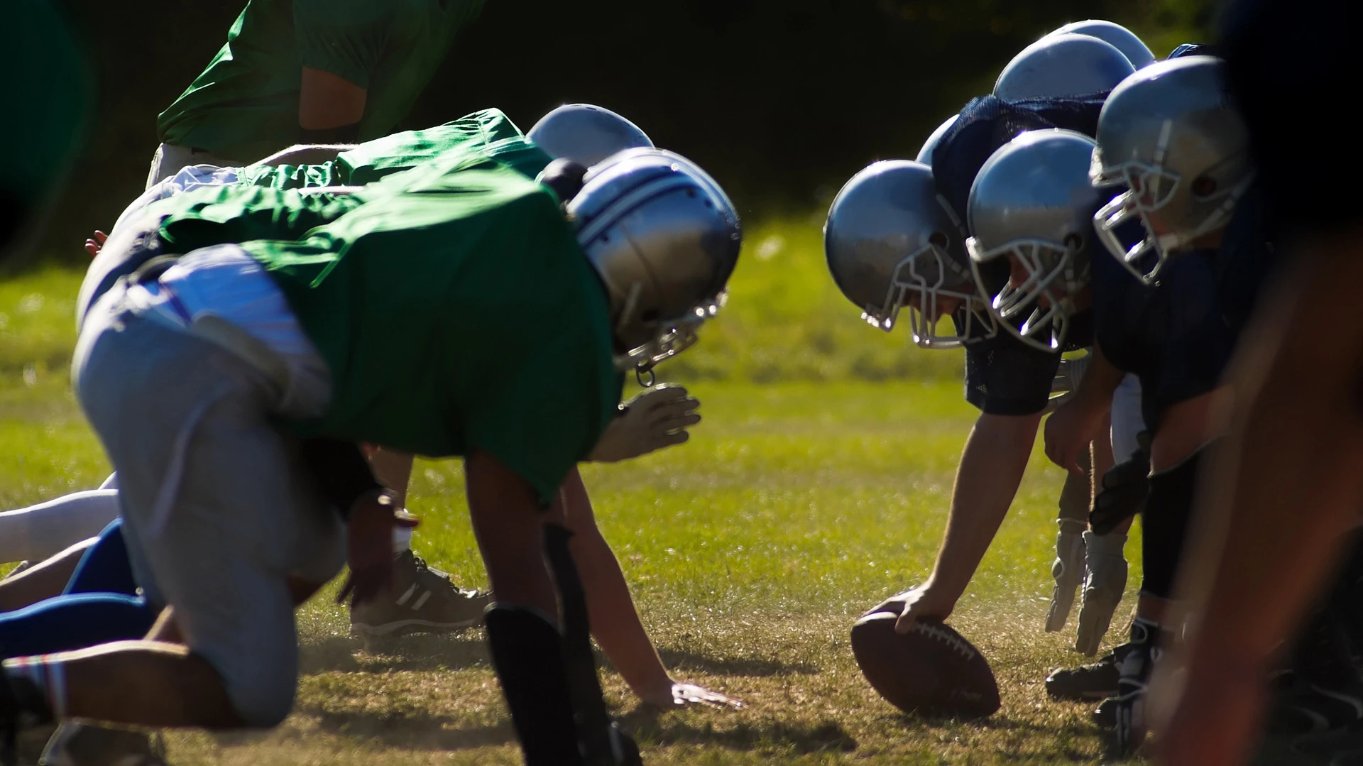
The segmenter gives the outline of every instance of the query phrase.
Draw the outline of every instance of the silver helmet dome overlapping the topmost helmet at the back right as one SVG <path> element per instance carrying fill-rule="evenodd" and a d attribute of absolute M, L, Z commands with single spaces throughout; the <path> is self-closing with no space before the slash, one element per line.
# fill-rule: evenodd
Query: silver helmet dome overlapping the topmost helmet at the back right
<path fill-rule="evenodd" d="M 1048 34 L 999 72 L 994 95 L 1007 101 L 1108 91 L 1135 67 L 1112 45 L 1088 34 Z"/>

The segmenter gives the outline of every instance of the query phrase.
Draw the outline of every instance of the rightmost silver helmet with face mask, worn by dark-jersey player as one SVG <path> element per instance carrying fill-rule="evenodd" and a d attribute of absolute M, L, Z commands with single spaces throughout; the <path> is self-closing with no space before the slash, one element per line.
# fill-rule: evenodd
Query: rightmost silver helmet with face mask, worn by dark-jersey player
<path fill-rule="evenodd" d="M 1103 244 L 1133 274 L 1154 282 L 1169 255 L 1224 228 L 1254 180 L 1250 135 L 1212 56 L 1160 61 L 1127 79 L 1103 105 L 1089 179 L 1126 184 L 1094 215 Z M 1116 229 L 1139 218 L 1146 236 L 1127 247 Z"/>

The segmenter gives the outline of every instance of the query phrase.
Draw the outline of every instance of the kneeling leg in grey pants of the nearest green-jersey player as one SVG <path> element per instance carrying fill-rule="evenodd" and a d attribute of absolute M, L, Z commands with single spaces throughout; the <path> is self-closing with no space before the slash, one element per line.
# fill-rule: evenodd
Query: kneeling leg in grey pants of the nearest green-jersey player
<path fill-rule="evenodd" d="M 119 469 L 138 582 L 176 605 L 185 646 L 11 661 L 25 709 L 150 726 L 277 724 L 297 672 L 288 567 L 298 519 L 326 510 L 294 480 L 271 394 L 217 346 L 117 311 L 91 315 L 74 368 Z"/>

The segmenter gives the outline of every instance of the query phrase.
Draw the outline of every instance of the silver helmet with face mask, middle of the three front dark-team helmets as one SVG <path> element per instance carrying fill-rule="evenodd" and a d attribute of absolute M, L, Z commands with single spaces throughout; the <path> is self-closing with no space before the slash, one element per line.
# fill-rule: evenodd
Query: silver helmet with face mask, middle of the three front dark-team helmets
<path fill-rule="evenodd" d="M 1074 131 L 1029 131 L 1003 144 L 970 185 L 966 240 L 976 281 L 1000 258 L 1013 278 L 990 297 L 999 324 L 1022 342 L 1056 350 L 1065 345 L 1075 297 L 1089 285 L 1093 211 L 1101 204 L 1089 185 L 1093 142 Z"/>

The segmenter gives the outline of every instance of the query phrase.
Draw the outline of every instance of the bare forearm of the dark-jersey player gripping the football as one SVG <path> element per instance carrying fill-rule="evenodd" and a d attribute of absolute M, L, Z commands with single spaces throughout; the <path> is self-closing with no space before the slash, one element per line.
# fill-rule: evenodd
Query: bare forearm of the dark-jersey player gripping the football
<path fill-rule="evenodd" d="M 1041 420 L 981 414 L 965 442 L 932 587 L 960 598 L 1017 495 Z"/>

